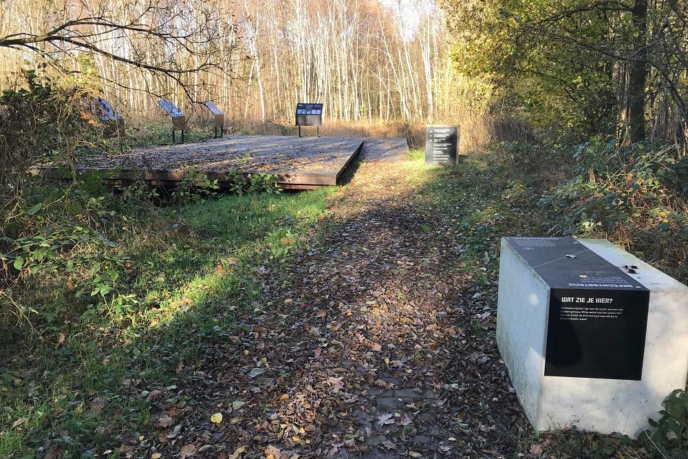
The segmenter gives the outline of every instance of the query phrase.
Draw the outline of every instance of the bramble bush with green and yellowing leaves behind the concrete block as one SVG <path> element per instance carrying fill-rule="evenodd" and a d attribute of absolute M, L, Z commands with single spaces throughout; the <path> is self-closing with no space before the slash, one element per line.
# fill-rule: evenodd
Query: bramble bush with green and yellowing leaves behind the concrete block
<path fill-rule="evenodd" d="M 550 234 L 611 239 L 686 281 L 688 174 L 678 147 L 593 138 L 573 158 L 572 176 L 539 197 Z"/>

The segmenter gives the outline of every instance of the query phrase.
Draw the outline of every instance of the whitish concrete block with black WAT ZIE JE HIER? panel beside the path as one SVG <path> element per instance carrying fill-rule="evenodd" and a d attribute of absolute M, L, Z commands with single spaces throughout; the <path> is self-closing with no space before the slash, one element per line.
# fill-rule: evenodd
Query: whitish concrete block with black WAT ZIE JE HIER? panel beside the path
<path fill-rule="evenodd" d="M 497 345 L 535 429 L 635 437 L 686 385 L 688 287 L 605 240 L 507 237 Z"/>

